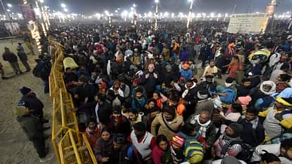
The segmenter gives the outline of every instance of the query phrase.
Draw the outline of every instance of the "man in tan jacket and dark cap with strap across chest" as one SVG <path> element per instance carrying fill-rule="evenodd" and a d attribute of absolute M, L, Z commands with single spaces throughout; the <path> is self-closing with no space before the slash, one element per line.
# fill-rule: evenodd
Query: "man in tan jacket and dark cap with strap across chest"
<path fill-rule="evenodd" d="M 159 113 L 152 121 L 151 133 L 154 136 L 164 134 L 170 140 L 178 132 L 182 124 L 183 118 L 180 115 L 176 115 L 176 108 L 174 106 L 166 106 L 164 107 L 164 113 Z M 158 134 L 157 127 L 159 127 Z"/>

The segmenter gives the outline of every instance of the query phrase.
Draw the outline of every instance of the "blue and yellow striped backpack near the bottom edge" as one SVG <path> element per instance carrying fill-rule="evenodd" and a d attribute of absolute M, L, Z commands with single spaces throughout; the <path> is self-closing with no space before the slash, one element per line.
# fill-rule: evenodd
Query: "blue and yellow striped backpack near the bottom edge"
<path fill-rule="evenodd" d="M 204 157 L 203 144 L 194 139 L 186 139 L 184 144 L 185 158 L 191 158 L 193 154 Z"/>

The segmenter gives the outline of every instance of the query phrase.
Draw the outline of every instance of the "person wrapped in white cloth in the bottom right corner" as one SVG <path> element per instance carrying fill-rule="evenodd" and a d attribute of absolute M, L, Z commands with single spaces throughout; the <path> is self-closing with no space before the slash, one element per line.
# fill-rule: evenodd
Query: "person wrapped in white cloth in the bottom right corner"
<path fill-rule="evenodd" d="M 260 161 L 260 156 L 264 151 L 273 153 L 279 156 L 282 164 L 292 163 L 292 139 L 284 139 L 281 144 L 269 144 L 257 146 L 255 152 L 253 153 L 253 161 Z"/>

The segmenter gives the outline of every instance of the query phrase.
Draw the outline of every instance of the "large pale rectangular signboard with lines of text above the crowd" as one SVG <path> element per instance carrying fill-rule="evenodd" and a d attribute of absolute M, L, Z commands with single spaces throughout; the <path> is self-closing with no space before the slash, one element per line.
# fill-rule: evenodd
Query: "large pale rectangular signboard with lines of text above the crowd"
<path fill-rule="evenodd" d="M 233 14 L 229 22 L 227 32 L 241 34 L 260 34 L 262 23 L 264 23 L 264 13 Z"/>

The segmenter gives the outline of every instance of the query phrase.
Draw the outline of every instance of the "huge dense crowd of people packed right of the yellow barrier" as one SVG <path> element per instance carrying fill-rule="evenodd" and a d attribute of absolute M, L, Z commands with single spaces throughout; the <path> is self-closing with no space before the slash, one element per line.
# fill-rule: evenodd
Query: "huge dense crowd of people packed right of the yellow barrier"
<path fill-rule="evenodd" d="M 277 25 L 229 34 L 212 21 L 68 24 L 49 34 L 64 46 L 63 80 L 98 163 L 288 164 L 292 35 Z"/>

